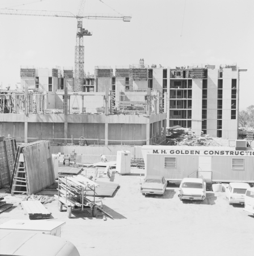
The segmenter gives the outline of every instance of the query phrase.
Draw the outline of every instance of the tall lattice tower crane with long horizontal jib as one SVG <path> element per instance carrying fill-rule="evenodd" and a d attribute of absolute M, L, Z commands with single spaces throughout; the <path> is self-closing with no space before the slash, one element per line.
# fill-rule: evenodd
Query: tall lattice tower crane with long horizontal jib
<path fill-rule="evenodd" d="M 75 46 L 75 91 L 80 92 L 83 85 L 84 77 L 84 45 L 83 36 L 91 36 L 91 32 L 85 30 L 82 26 L 82 19 L 115 19 L 130 22 L 132 16 L 122 14 L 83 14 L 84 3 L 86 0 L 81 0 L 79 4 L 78 14 L 74 15 L 69 11 L 40 11 L 40 10 L 15 10 L 15 9 L 0 9 L 0 14 L 3 15 L 26 15 L 26 16 L 48 16 L 62 18 L 77 19 L 77 34 Z"/>

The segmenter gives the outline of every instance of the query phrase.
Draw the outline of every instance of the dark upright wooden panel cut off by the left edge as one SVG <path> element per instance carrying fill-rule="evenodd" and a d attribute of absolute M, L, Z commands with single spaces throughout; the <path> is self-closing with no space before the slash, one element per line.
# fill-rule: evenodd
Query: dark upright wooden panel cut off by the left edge
<path fill-rule="evenodd" d="M 0 141 L 0 188 L 10 185 L 15 154 L 15 139 L 4 139 Z"/>

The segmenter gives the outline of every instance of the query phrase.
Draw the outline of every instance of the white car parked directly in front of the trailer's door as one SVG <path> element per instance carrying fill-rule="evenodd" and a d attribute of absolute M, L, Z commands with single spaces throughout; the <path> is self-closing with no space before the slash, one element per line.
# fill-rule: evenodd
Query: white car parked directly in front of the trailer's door
<path fill-rule="evenodd" d="M 187 200 L 205 200 L 206 183 L 200 178 L 184 178 L 181 181 L 178 197 L 180 201 Z"/>

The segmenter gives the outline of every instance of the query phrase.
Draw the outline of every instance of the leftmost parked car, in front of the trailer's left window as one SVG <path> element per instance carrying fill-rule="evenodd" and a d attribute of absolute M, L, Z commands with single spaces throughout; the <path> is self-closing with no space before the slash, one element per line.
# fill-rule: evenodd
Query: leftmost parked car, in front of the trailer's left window
<path fill-rule="evenodd" d="M 146 176 L 140 191 L 142 195 L 156 194 L 163 196 L 166 188 L 167 180 L 163 176 Z"/>

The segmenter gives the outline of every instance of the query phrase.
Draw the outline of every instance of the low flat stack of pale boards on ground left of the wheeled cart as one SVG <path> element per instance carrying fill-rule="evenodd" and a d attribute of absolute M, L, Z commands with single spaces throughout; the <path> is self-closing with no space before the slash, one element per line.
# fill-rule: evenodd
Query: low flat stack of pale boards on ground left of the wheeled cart
<path fill-rule="evenodd" d="M 51 213 L 41 204 L 40 201 L 23 201 L 21 205 L 29 215 L 30 220 L 50 218 Z"/>

